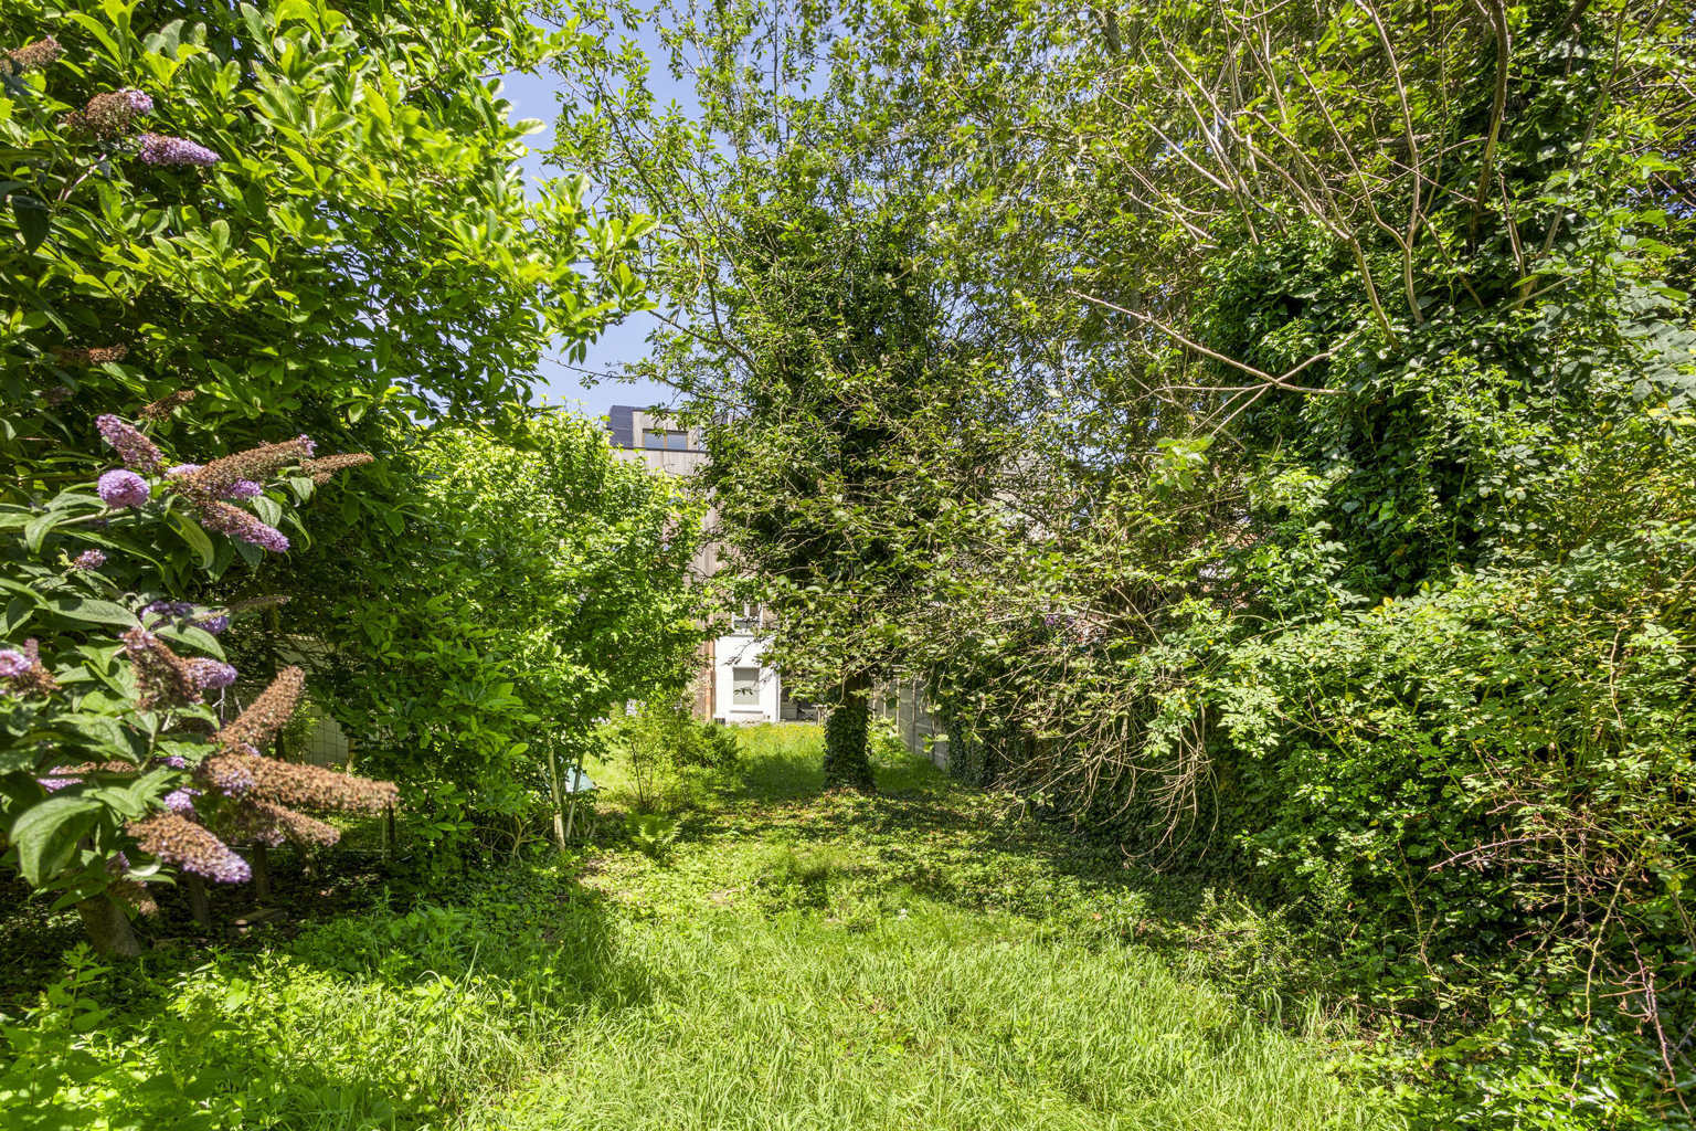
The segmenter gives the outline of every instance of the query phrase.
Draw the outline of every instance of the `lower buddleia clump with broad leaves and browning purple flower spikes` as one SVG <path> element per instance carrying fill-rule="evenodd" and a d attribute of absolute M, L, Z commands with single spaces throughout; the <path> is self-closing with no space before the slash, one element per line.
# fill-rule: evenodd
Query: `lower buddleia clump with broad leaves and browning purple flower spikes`
<path fill-rule="evenodd" d="M 136 941 L 119 911 L 154 911 L 149 883 L 178 872 L 244 882 L 248 861 L 226 839 L 332 843 L 332 826 L 295 807 L 373 812 L 395 790 L 259 753 L 293 716 L 300 668 L 220 721 L 237 671 L 219 638 L 253 604 L 165 590 L 161 558 L 181 560 L 178 573 L 219 565 L 214 532 L 288 549 L 278 526 L 298 519 L 283 499 L 317 487 L 312 441 L 192 465 L 115 415 L 98 424 L 126 466 L 0 504 L 0 829 L 24 880 L 76 904 L 93 941 L 122 953 Z"/>

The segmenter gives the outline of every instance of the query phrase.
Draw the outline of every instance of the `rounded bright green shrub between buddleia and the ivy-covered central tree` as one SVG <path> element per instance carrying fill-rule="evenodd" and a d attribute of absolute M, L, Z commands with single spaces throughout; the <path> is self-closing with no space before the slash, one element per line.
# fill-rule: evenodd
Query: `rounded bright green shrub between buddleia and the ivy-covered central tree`
<path fill-rule="evenodd" d="M 441 429 L 412 466 L 395 549 L 326 593 L 327 685 L 343 727 L 368 736 L 361 763 L 444 817 L 416 831 L 458 851 L 468 826 L 538 822 L 550 749 L 573 765 L 599 719 L 690 677 L 700 517 L 570 414 L 504 439 Z"/>

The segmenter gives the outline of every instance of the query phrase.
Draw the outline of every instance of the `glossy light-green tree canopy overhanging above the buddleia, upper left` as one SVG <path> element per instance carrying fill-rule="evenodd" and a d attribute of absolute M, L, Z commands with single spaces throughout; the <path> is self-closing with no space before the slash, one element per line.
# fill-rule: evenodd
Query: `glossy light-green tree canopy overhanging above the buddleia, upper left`
<path fill-rule="evenodd" d="M 8 463 L 183 387 L 200 393 L 188 427 L 231 448 L 268 414 L 331 439 L 373 412 L 492 407 L 524 392 L 550 336 L 580 349 L 611 309 L 573 263 L 626 232 L 589 224 L 580 183 L 526 202 L 512 166 L 526 127 L 483 76 L 561 37 L 510 5 L 287 0 L 185 20 L 151 0 L 19 0 L 0 17 L 5 47 L 47 36 L 63 58 L 0 102 L 0 144 L 31 154 L 8 163 L 0 214 Z M 112 137 L 63 124 L 120 88 L 153 114 Z M 146 164 L 142 131 L 220 161 Z M 17 239 L 15 217 L 42 210 L 47 234 Z M 114 344 L 117 361 L 61 358 Z M 70 400 L 42 404 L 56 387 Z"/>

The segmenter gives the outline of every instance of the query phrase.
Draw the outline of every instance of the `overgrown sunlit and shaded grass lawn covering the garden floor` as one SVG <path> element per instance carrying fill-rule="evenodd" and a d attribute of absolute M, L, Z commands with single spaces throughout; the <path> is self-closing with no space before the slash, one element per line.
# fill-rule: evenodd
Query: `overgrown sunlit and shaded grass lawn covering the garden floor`
<path fill-rule="evenodd" d="M 71 975 L 8 1026 L 7 1124 L 1398 1126 L 1318 1014 L 1269 1028 L 1136 943 L 1148 902 L 1111 861 L 904 758 L 879 797 L 819 794 L 811 727 L 743 746 L 670 863 L 538 858 L 268 950 Z"/>

